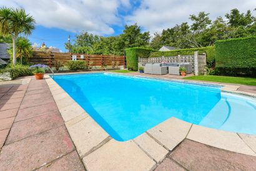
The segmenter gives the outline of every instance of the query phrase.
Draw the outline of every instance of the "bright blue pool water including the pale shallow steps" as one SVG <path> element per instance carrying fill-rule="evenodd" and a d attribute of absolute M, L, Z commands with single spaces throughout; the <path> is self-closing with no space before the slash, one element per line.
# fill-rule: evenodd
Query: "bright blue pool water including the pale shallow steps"
<path fill-rule="evenodd" d="M 111 73 L 54 80 L 117 141 L 134 139 L 171 117 L 225 131 L 256 134 L 256 101 L 195 85 Z"/>

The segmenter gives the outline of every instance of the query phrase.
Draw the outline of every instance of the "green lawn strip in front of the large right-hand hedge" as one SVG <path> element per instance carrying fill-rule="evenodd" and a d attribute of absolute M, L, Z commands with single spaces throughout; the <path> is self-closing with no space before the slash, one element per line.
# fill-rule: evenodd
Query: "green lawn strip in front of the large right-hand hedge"
<path fill-rule="evenodd" d="M 220 83 L 234 83 L 234 84 L 241 84 L 241 85 L 256 86 L 256 78 L 247 78 L 247 77 L 199 75 L 199 76 L 189 76 L 189 77 L 186 77 L 183 79 L 213 81 L 213 82 L 220 82 Z"/>

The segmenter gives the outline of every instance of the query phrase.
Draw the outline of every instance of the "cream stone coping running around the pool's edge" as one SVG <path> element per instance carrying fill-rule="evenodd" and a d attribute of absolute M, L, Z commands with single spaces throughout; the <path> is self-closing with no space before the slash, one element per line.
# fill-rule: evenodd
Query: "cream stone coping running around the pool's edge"
<path fill-rule="evenodd" d="M 165 156 L 184 139 L 240 154 L 256 156 L 256 136 L 254 135 L 197 126 L 176 118 L 161 122 L 135 139 L 126 142 L 116 141 L 49 75 L 45 75 L 44 78 L 77 148 L 79 157 L 87 170 L 99 170 L 101 168 L 105 170 L 154 170 Z M 164 78 L 163 80 L 170 79 Z M 222 85 L 221 91 L 224 92 L 256 97 L 254 93 L 237 92 L 239 86 L 214 85 Z M 134 157 L 135 154 L 136 157 Z M 140 162 L 136 163 L 137 161 Z M 130 165 L 130 163 L 136 164 Z"/>

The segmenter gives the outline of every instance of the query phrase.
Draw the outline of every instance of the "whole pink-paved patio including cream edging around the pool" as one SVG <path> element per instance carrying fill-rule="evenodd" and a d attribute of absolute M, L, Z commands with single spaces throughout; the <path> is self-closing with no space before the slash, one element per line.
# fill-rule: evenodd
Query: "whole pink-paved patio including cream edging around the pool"
<path fill-rule="evenodd" d="M 45 78 L 0 85 L 0 170 L 256 169 L 256 136 L 170 118 L 119 142 Z M 245 92 L 240 85 L 226 88 Z"/>

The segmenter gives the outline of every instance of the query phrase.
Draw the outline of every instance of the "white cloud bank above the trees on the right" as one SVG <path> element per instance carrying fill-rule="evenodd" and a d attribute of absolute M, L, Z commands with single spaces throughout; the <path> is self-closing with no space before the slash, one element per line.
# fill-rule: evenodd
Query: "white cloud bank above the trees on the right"
<path fill-rule="evenodd" d="M 127 24 L 137 22 L 142 29 L 153 34 L 175 24 L 188 22 L 190 14 L 198 14 L 200 11 L 210 13 L 210 19 L 214 20 L 219 16 L 224 17 L 234 8 L 246 12 L 255 7 L 255 0 L 142 0 L 140 6 L 125 20 Z"/>

